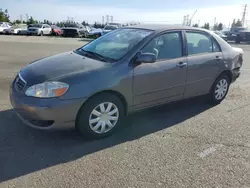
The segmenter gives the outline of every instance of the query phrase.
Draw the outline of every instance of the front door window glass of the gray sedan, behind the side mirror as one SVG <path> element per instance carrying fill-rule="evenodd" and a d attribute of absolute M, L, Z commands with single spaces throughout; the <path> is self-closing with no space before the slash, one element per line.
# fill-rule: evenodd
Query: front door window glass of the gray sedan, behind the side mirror
<path fill-rule="evenodd" d="M 149 42 L 142 53 L 154 53 L 157 60 L 182 57 L 182 38 L 180 32 L 160 35 Z"/>

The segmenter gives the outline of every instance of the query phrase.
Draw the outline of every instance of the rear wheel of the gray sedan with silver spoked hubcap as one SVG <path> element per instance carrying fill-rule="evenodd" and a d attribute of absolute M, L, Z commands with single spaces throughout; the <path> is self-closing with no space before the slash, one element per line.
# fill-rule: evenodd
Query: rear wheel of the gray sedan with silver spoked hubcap
<path fill-rule="evenodd" d="M 227 96 L 229 87 L 230 87 L 230 79 L 226 74 L 220 75 L 214 82 L 211 91 L 210 91 L 210 102 L 212 104 L 220 104 L 225 97 Z M 222 92 L 219 94 L 219 92 Z"/>

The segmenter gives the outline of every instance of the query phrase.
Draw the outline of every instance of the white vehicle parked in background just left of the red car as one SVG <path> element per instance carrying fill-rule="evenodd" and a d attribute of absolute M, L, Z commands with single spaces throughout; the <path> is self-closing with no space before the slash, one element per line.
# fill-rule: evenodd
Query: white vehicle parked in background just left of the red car
<path fill-rule="evenodd" d="M 51 35 L 52 28 L 48 24 L 31 24 L 28 26 L 27 35 Z"/>

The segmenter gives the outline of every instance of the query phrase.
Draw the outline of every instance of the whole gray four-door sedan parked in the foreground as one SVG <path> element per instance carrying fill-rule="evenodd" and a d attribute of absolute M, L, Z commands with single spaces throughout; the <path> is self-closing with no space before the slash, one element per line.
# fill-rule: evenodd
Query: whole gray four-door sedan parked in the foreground
<path fill-rule="evenodd" d="M 38 129 L 111 135 L 130 113 L 208 95 L 219 104 L 240 75 L 243 50 L 198 28 L 120 28 L 24 67 L 10 88 L 17 115 Z"/>

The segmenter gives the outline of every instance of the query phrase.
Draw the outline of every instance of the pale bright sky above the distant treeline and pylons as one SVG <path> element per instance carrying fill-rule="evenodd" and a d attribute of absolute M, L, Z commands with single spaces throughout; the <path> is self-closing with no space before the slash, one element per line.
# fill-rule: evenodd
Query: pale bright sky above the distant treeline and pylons
<path fill-rule="evenodd" d="M 181 24 L 183 16 L 197 9 L 193 23 L 217 22 L 228 25 L 233 18 L 241 18 L 246 0 L 1 0 L 0 8 L 7 8 L 12 20 L 20 15 L 51 21 L 83 20 L 101 22 L 103 15 L 113 15 L 115 22 Z M 249 4 L 250 6 L 250 4 Z M 250 20 L 249 15 L 247 20 Z"/>

